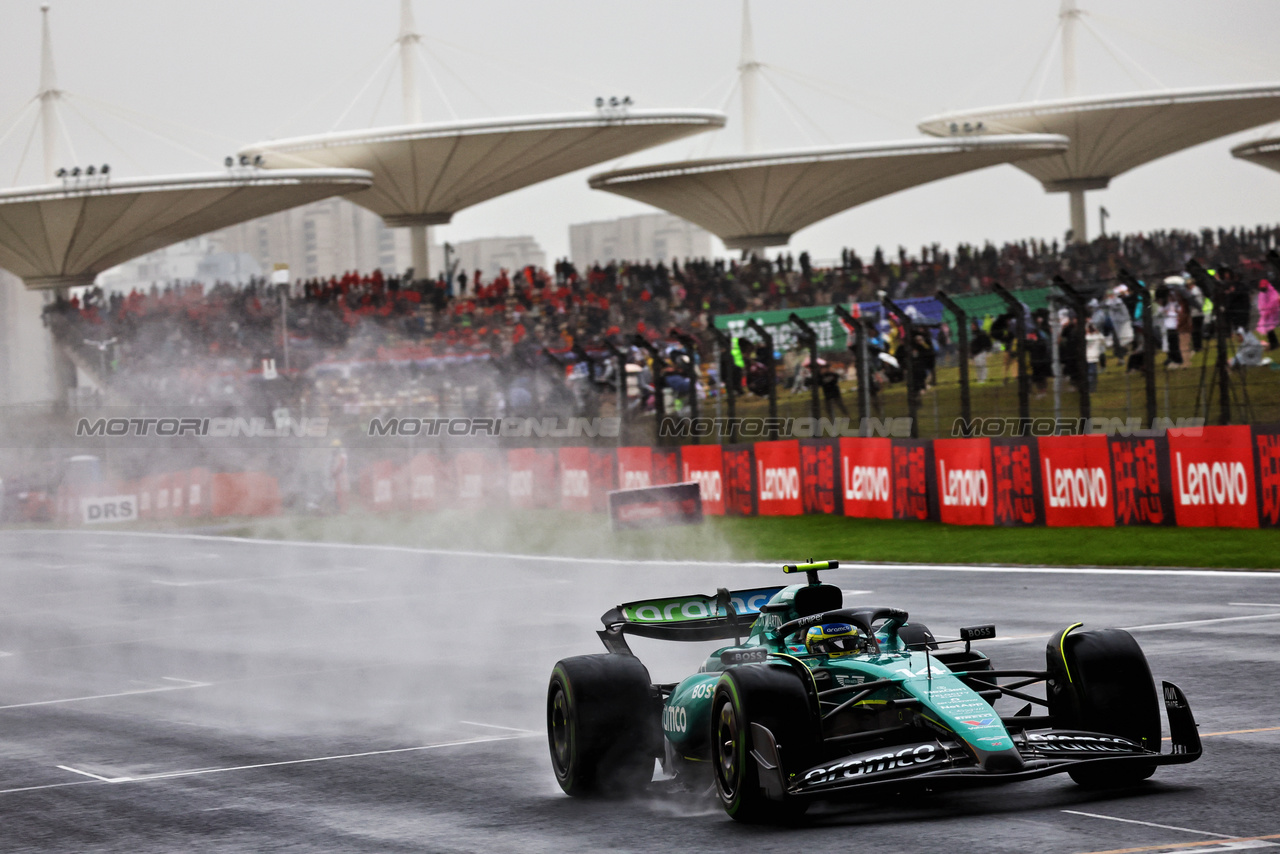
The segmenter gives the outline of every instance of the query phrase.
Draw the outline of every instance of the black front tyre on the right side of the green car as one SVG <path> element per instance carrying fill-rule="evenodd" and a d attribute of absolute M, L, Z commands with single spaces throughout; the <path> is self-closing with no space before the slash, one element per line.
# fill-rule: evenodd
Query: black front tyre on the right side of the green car
<path fill-rule="evenodd" d="M 1119 735 L 1160 752 L 1160 694 L 1138 641 L 1123 629 L 1064 629 L 1046 649 L 1048 712 L 1059 726 Z M 1155 764 L 1070 771 L 1082 786 L 1126 786 L 1146 780 Z"/>

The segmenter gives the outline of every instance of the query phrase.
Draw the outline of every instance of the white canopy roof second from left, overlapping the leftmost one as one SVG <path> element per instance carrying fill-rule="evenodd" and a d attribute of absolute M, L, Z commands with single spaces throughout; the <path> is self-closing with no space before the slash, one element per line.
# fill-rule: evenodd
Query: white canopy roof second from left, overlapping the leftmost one
<path fill-rule="evenodd" d="M 243 154 L 270 168 L 367 169 L 374 187 L 351 201 L 388 225 L 440 225 L 495 196 L 721 127 L 724 115 L 710 110 L 602 110 L 323 133 Z"/>

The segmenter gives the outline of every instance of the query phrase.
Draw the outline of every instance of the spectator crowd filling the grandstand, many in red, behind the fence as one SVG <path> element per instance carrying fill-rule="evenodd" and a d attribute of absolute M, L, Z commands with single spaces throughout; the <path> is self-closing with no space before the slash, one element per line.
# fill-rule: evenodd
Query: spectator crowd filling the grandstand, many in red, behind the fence
<path fill-rule="evenodd" d="M 652 391 L 663 361 L 650 353 L 668 356 L 666 370 L 676 384 L 675 375 L 687 375 L 682 360 L 710 361 L 714 315 L 938 291 L 984 293 L 995 283 L 1036 288 L 1061 275 L 1094 297 L 1088 318 L 1066 312 L 1059 330 L 1062 346 L 1085 337 L 1092 382 L 1107 351 L 1135 367 L 1158 346 L 1176 366 L 1203 346 L 1213 307 L 1206 306 L 1211 294 L 1183 277 L 1193 259 L 1230 283 L 1235 296 L 1220 316 L 1244 333 L 1239 357 L 1258 364 L 1260 353 L 1277 344 L 1280 296 L 1268 282 L 1266 257 L 1277 243 L 1280 228 L 1258 227 L 1106 236 L 1087 245 L 1030 239 L 948 251 L 934 243 L 916 255 L 877 248 L 870 259 L 845 250 L 838 262 L 823 266 L 805 252 L 786 252 L 585 269 L 563 260 L 552 270 L 530 266 L 493 278 L 454 270 L 411 282 L 375 270 L 293 284 L 175 282 L 59 297 L 45 320 L 82 367 L 128 402 L 261 402 L 349 412 L 413 403 L 497 414 L 554 403 L 589 411 L 591 389 L 616 388 L 614 362 L 603 359 L 611 347 L 631 348 L 628 371 L 636 370 L 634 385 L 645 405 L 643 389 Z M 1140 332 L 1142 302 L 1117 279 L 1121 270 L 1158 283 L 1152 312 L 1160 333 L 1151 343 Z M 1050 339 L 1047 311 L 1029 323 L 1033 341 Z M 979 380 L 988 353 L 1012 335 L 1011 325 L 1007 316 L 977 321 Z M 632 347 L 637 338 L 649 347 Z M 1048 361 L 1047 346 L 1036 344 L 1030 367 L 1038 384 Z M 932 370 L 932 353 L 929 364 Z M 1074 359 L 1064 356 L 1062 365 L 1082 382 Z"/>

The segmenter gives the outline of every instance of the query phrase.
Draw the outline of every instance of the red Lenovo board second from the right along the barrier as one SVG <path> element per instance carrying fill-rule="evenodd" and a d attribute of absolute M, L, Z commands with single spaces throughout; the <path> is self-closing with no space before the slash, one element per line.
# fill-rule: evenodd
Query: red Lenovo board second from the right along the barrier
<path fill-rule="evenodd" d="M 1036 442 L 1041 457 L 1044 524 L 1051 528 L 1115 525 L 1107 438 L 1053 435 Z"/>

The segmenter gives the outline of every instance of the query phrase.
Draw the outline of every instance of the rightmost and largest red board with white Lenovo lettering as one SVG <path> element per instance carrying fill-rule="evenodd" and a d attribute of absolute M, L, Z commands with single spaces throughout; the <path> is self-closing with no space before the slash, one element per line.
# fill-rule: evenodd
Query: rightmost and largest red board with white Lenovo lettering
<path fill-rule="evenodd" d="M 1174 515 L 1180 526 L 1258 526 L 1252 438 L 1245 425 L 1169 431 Z"/>

